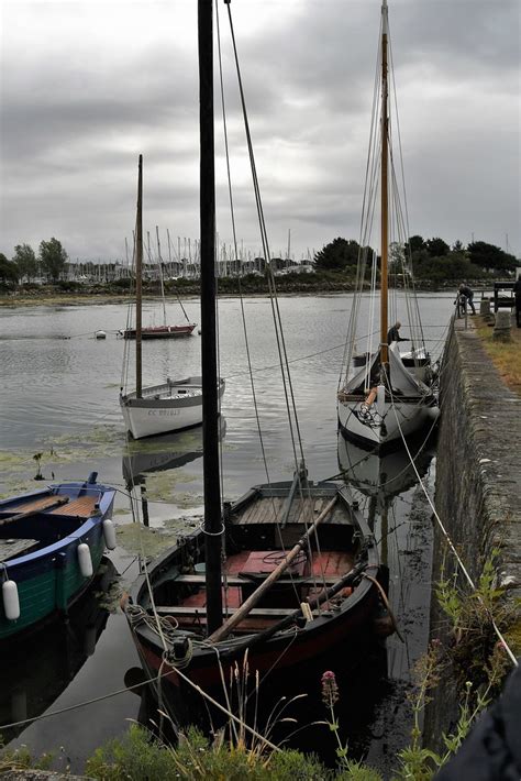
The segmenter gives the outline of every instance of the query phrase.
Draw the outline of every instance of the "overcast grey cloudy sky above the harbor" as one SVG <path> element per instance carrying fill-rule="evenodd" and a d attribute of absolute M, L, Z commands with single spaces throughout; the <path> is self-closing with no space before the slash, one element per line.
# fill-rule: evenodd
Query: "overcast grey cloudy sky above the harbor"
<path fill-rule="evenodd" d="M 379 0 L 232 0 L 270 249 L 358 239 Z M 519 0 L 390 0 L 411 233 L 521 255 Z M 0 252 L 197 239 L 197 0 L 3 0 Z M 237 237 L 260 245 L 220 0 Z M 219 101 L 217 101 L 219 112 Z M 218 230 L 231 240 L 218 117 Z"/>

